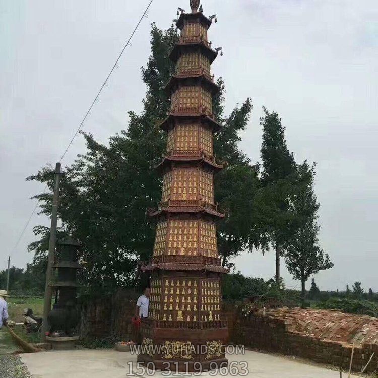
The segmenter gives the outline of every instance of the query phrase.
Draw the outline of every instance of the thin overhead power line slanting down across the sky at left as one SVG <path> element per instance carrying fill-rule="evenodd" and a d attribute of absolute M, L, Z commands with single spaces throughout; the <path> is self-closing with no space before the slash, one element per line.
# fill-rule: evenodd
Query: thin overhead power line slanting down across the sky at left
<path fill-rule="evenodd" d="M 144 17 L 148 17 L 148 16 L 147 16 L 147 11 L 148 11 L 148 9 L 150 8 L 152 2 L 153 2 L 153 0 L 150 0 L 150 2 L 148 3 L 148 5 L 147 5 L 145 11 L 143 12 L 141 18 L 139 19 L 139 21 L 138 21 L 136 27 L 134 28 L 133 32 L 131 33 L 131 35 L 130 35 L 128 41 L 127 41 L 127 42 L 125 43 L 125 45 L 123 46 L 122 51 L 121 51 L 120 54 L 118 55 L 117 60 L 115 61 L 114 65 L 113 65 L 113 67 L 111 68 L 111 70 L 110 70 L 108 76 L 106 77 L 105 81 L 103 82 L 103 84 L 102 84 L 100 90 L 98 91 L 98 93 L 97 93 L 95 99 L 93 100 L 93 102 L 92 102 L 91 105 L 89 106 L 88 111 L 87 111 L 86 114 L 84 115 L 84 118 L 82 119 L 82 121 L 81 121 L 81 123 L 80 123 L 78 129 L 76 130 L 76 132 L 75 132 L 74 136 L 72 137 L 70 143 L 68 144 L 67 148 L 65 149 L 65 152 L 61 155 L 59 162 L 61 162 L 61 161 L 63 160 L 63 158 L 65 157 L 65 155 L 66 155 L 68 149 L 69 149 L 69 148 L 71 147 L 71 145 L 72 145 L 72 142 L 74 141 L 74 139 L 75 139 L 76 136 L 78 135 L 80 129 L 83 127 L 84 121 L 87 119 L 88 115 L 90 114 L 93 105 L 95 104 L 96 101 L 98 101 L 98 97 L 99 97 L 100 93 L 102 92 L 102 90 L 104 89 L 104 87 L 107 86 L 107 81 L 108 81 L 110 75 L 113 73 L 114 69 L 118 67 L 118 61 L 119 61 L 119 59 L 121 58 L 121 56 L 122 56 L 124 50 L 125 50 L 126 47 L 128 47 L 129 45 L 131 46 L 130 41 L 131 41 L 131 39 L 133 38 L 135 32 L 137 31 L 139 25 L 141 24 L 143 18 L 144 18 Z M 46 192 L 46 189 L 47 189 L 47 184 L 46 184 L 46 186 L 44 187 L 44 190 L 43 190 L 42 194 L 44 194 L 44 193 Z M 29 225 L 29 223 L 30 223 L 30 221 L 31 221 L 31 219 L 32 219 L 32 217 L 33 217 L 33 215 L 34 215 L 34 213 L 35 213 L 35 211 L 36 211 L 37 208 L 38 208 L 38 205 L 39 205 L 39 199 L 37 200 L 37 203 L 35 204 L 35 207 L 34 207 L 32 213 L 30 214 L 29 219 L 27 220 L 27 222 L 26 222 L 26 224 L 25 224 L 23 230 L 21 231 L 21 234 L 20 234 L 20 236 L 18 237 L 17 242 L 16 242 L 15 246 L 13 247 L 10 256 L 13 255 L 13 253 L 14 253 L 14 251 L 16 250 L 18 244 L 20 243 L 20 241 L 21 241 L 21 239 L 22 239 L 22 237 L 23 237 L 23 235 L 24 235 L 24 233 L 25 233 L 25 231 L 26 231 L 26 229 L 27 229 L 27 227 L 28 227 L 28 225 Z"/>

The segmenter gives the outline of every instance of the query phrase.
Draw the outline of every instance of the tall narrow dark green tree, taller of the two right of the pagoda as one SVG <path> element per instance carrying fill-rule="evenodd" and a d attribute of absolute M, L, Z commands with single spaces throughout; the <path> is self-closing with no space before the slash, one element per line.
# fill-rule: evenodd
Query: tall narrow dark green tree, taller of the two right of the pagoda
<path fill-rule="evenodd" d="M 273 245 L 276 250 L 276 282 L 280 282 L 280 256 L 284 255 L 284 245 L 291 233 L 291 213 L 289 211 L 295 176 L 295 161 L 285 140 L 285 127 L 276 112 L 269 113 L 263 107 L 265 116 L 260 119 L 263 127 L 261 146 L 265 242 L 263 251 Z"/>

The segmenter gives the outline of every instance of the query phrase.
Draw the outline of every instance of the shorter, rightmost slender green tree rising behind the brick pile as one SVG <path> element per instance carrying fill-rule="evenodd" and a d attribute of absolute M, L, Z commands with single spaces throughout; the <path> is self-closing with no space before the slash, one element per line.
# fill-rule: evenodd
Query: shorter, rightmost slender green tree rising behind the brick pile
<path fill-rule="evenodd" d="M 330 269 L 333 263 L 319 246 L 317 211 L 319 204 L 314 193 L 314 165 L 305 161 L 298 166 L 298 185 L 291 197 L 290 209 L 295 215 L 296 231 L 286 244 L 285 262 L 289 273 L 301 281 L 302 306 L 305 302 L 305 283 L 312 274 Z"/>

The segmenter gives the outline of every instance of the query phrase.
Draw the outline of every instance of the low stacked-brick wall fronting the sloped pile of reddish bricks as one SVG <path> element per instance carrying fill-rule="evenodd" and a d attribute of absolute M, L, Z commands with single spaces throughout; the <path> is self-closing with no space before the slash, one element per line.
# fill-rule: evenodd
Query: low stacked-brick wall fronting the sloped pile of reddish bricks
<path fill-rule="evenodd" d="M 308 358 L 315 362 L 349 369 L 352 345 L 347 342 L 306 336 L 293 330 L 291 320 L 264 316 L 261 313 L 237 317 L 231 336 L 246 347 Z M 374 353 L 365 372 L 377 370 L 378 344 L 362 343 L 354 348 L 352 370 L 361 371 Z"/>

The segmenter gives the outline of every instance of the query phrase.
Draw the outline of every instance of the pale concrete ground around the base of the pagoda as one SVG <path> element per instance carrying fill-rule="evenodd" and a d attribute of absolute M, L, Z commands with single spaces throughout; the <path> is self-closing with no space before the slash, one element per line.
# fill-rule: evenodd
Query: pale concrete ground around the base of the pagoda
<path fill-rule="evenodd" d="M 33 378 L 127 378 L 128 376 L 164 376 L 161 372 L 147 374 L 138 370 L 136 355 L 114 350 L 69 350 L 21 354 Z M 297 362 L 292 358 L 245 351 L 244 355 L 228 356 L 230 368 L 226 374 L 204 372 L 201 377 L 248 376 L 254 378 L 339 378 L 340 372 Z M 244 364 L 248 372 L 244 373 Z M 231 362 L 233 362 L 231 364 Z M 231 366 L 233 366 L 231 368 Z M 173 375 L 173 374 L 172 374 Z M 166 375 L 165 375 L 166 376 Z M 178 376 L 175 374 L 175 376 Z M 184 375 L 185 376 L 185 375 Z M 186 375 L 188 376 L 188 374 Z M 198 375 L 197 375 L 198 376 Z M 347 377 L 347 373 L 343 373 Z M 354 377 L 356 377 L 354 375 Z"/>

